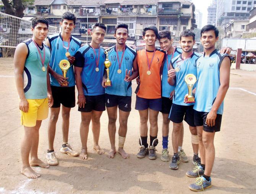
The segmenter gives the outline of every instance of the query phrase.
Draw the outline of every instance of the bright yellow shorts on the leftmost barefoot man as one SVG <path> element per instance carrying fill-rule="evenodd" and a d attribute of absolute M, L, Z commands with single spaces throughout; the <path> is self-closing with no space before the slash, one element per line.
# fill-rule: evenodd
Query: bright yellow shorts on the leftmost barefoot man
<path fill-rule="evenodd" d="M 27 100 L 29 108 L 28 112 L 21 111 L 21 125 L 34 127 L 37 120 L 44 120 L 48 117 L 48 98 Z"/>

